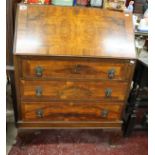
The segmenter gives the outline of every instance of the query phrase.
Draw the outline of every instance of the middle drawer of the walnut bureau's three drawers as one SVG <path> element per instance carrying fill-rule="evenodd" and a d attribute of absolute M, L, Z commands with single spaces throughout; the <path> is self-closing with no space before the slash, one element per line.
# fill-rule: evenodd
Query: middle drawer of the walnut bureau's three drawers
<path fill-rule="evenodd" d="M 22 99 L 40 100 L 125 100 L 128 84 L 115 81 L 25 81 Z"/>

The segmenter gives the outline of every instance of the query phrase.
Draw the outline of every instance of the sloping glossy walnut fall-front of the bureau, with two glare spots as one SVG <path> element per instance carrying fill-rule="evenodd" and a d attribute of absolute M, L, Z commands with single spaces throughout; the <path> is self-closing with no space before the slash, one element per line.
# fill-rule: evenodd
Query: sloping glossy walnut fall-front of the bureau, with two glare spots
<path fill-rule="evenodd" d="M 19 4 L 14 54 L 135 58 L 132 16 L 97 8 Z"/>

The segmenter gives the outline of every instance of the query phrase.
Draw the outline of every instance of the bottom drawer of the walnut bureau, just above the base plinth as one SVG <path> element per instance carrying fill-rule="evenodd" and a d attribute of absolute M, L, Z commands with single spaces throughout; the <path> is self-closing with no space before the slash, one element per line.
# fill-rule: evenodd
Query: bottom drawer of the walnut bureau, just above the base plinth
<path fill-rule="evenodd" d="M 121 103 L 22 102 L 24 121 L 118 121 Z"/>

